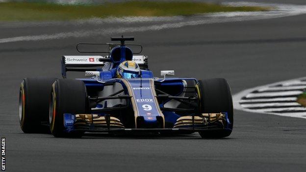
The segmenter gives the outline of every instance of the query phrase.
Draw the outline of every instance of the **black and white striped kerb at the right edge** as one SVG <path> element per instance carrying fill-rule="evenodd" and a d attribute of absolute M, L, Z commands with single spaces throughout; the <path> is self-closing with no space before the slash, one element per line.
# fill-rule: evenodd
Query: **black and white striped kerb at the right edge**
<path fill-rule="evenodd" d="M 306 108 L 296 102 L 305 91 L 306 77 L 255 87 L 234 95 L 234 108 L 306 119 Z"/>

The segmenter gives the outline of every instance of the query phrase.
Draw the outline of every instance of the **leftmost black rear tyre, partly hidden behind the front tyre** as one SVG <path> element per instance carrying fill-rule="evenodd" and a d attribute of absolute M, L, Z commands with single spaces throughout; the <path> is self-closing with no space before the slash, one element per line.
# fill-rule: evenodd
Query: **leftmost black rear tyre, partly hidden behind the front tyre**
<path fill-rule="evenodd" d="M 19 92 L 19 121 L 24 133 L 50 133 L 49 99 L 56 78 L 25 78 Z"/>

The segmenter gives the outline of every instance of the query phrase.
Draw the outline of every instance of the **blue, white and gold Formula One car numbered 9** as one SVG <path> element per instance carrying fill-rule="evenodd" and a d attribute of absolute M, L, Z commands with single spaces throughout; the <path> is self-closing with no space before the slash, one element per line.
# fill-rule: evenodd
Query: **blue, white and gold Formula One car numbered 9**
<path fill-rule="evenodd" d="M 63 56 L 62 76 L 25 78 L 20 87 L 20 126 L 25 133 L 51 132 L 55 137 L 81 137 L 85 132 L 193 133 L 203 138 L 230 135 L 233 105 L 223 78 L 171 78 L 174 71 L 153 77 L 141 45 L 133 37 L 111 37 L 106 56 Z M 132 52 L 127 45 L 139 46 Z M 129 46 L 130 47 L 130 46 Z M 89 53 L 90 51 L 87 51 Z M 97 52 L 96 52 L 97 53 Z M 85 72 L 67 79 L 68 71 Z M 46 129 L 47 128 L 47 129 Z"/>

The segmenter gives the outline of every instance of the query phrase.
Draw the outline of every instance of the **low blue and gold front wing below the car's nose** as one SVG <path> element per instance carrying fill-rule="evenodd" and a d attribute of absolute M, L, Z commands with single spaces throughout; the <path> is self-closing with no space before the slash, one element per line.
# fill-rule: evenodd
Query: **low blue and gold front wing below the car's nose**
<path fill-rule="evenodd" d="M 98 114 L 64 114 L 66 132 L 199 132 L 204 130 L 231 130 L 227 113 L 209 113 L 201 116 L 183 116 L 178 118 L 173 128 L 125 128 L 119 119 Z"/>

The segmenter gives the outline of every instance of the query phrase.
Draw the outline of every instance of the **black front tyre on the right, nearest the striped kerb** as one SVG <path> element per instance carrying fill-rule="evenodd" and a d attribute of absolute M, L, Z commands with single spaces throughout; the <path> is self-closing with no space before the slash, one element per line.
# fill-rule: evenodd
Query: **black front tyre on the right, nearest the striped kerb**
<path fill-rule="evenodd" d="M 202 138 L 228 137 L 233 126 L 233 104 L 229 83 L 224 78 L 199 80 L 197 84 L 201 113 L 227 112 L 229 129 L 199 132 Z"/>

